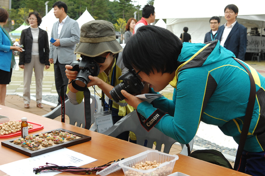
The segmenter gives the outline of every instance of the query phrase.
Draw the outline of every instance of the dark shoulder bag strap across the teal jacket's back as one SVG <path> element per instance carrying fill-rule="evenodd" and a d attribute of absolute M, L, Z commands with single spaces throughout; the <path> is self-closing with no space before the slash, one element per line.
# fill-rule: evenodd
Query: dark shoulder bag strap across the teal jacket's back
<path fill-rule="evenodd" d="M 252 119 L 252 114 L 253 114 L 255 99 L 256 99 L 256 86 L 255 86 L 254 79 L 253 79 L 252 74 L 249 71 L 249 69 L 241 61 L 239 61 L 235 58 L 233 58 L 233 59 L 236 62 L 240 63 L 247 70 L 247 72 L 249 74 L 249 79 L 250 79 L 250 94 L 249 94 L 248 107 L 246 110 L 244 124 L 243 124 L 243 128 L 242 128 L 241 136 L 240 136 L 239 147 L 237 148 L 236 158 L 235 158 L 235 162 L 234 162 L 234 170 L 237 170 L 237 166 L 239 165 L 239 162 L 240 162 L 243 150 L 244 150 L 244 146 L 245 146 L 246 139 L 248 136 L 250 122 Z"/>

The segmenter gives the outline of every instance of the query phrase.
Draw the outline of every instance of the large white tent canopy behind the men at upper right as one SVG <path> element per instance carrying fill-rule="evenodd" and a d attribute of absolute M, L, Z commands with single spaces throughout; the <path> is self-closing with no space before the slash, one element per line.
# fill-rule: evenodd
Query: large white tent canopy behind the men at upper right
<path fill-rule="evenodd" d="M 206 32 L 210 31 L 209 19 L 212 16 L 221 17 L 221 25 L 226 22 L 224 8 L 234 4 L 239 8 L 237 21 L 246 27 L 265 27 L 265 1 L 257 0 L 255 3 L 244 3 L 239 0 L 213 2 L 210 0 L 188 2 L 175 0 L 155 0 L 155 18 L 167 19 L 167 29 L 178 37 L 183 28 L 188 27 L 192 42 L 203 42 Z"/>

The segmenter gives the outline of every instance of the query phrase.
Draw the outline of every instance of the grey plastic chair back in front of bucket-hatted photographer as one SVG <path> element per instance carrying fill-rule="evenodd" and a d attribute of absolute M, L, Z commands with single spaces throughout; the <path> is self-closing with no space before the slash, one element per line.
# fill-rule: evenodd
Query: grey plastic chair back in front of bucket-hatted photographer
<path fill-rule="evenodd" d="M 101 100 L 99 99 L 99 96 L 91 94 L 90 95 L 90 105 L 91 105 L 91 124 L 95 122 L 94 113 L 95 110 L 97 112 L 103 111 L 103 107 L 101 106 Z M 81 102 L 81 104 L 73 105 L 69 99 L 65 101 L 65 114 L 69 117 L 69 123 L 74 125 L 76 122 L 77 127 L 85 128 L 85 105 L 84 101 Z M 56 107 L 51 112 L 43 115 L 43 117 L 47 117 L 50 119 L 55 119 L 59 115 L 62 115 L 61 112 L 61 105 Z"/>

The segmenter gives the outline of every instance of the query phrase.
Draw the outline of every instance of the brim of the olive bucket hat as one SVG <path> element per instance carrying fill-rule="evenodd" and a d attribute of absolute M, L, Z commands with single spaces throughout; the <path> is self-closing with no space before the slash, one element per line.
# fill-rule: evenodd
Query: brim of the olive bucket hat
<path fill-rule="evenodd" d="M 74 54 L 77 53 L 88 57 L 96 57 L 107 52 L 120 53 L 122 52 L 122 46 L 117 40 L 99 43 L 80 42 L 74 50 Z"/>

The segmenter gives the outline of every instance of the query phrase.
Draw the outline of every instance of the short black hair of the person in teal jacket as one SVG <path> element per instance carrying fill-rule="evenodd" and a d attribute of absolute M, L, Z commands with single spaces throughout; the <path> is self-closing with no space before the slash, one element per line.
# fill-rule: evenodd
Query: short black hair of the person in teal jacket
<path fill-rule="evenodd" d="M 149 75 L 155 70 L 172 73 L 177 69 L 177 59 L 182 43 L 169 30 L 157 26 L 143 26 L 126 43 L 122 59 L 128 69 L 136 68 Z"/>

